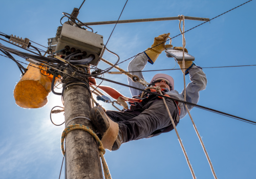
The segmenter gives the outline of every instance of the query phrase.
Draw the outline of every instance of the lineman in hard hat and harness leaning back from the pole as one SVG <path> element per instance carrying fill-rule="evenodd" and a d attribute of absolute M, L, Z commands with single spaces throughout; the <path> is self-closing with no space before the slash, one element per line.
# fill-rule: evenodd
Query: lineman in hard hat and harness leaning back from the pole
<path fill-rule="evenodd" d="M 155 37 L 151 47 L 166 41 L 168 34 L 162 34 Z M 128 71 L 142 71 L 147 62 L 154 64 L 159 54 L 165 48 L 172 47 L 170 44 L 160 44 L 159 46 L 149 49 L 142 54 L 137 55 L 128 66 Z M 182 50 L 180 47 L 174 49 Z M 187 52 L 187 50 L 185 49 Z M 182 69 L 182 61 L 178 61 Z M 196 66 L 193 61 L 185 61 L 185 74 L 189 74 L 191 82 L 186 87 L 187 102 L 197 104 L 199 101 L 199 92 L 206 87 L 207 79 L 200 66 Z M 132 73 L 139 78 L 144 79 L 142 72 Z M 145 88 L 140 83 L 132 81 L 128 78 L 131 86 Z M 151 80 L 155 86 L 162 88 L 162 92 L 174 99 L 184 100 L 184 91 L 178 93 L 174 89 L 174 79 L 166 74 L 157 74 Z M 150 90 L 150 89 L 148 89 Z M 133 98 L 139 98 L 141 91 L 130 88 Z M 131 105 L 131 109 L 124 111 L 107 110 L 106 113 L 101 107 L 93 107 L 90 111 L 90 119 L 93 125 L 101 135 L 104 148 L 109 150 L 117 150 L 120 145 L 132 140 L 143 138 L 151 138 L 158 136 L 163 132 L 169 132 L 174 129 L 172 122 L 168 116 L 163 100 L 156 95 L 146 94 L 142 98 L 142 102 Z M 187 110 L 183 103 L 178 103 L 165 98 L 170 114 L 175 124 L 179 123 L 181 118 L 187 114 Z M 187 105 L 191 110 L 193 106 Z"/>

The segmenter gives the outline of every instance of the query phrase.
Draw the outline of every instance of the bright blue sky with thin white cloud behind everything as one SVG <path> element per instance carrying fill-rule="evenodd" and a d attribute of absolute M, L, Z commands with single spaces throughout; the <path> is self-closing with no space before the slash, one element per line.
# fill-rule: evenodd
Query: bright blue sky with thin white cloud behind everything
<path fill-rule="evenodd" d="M 55 36 L 62 12 L 71 13 L 82 1 L 1 1 L 0 32 L 27 37 L 47 46 L 47 38 Z M 129 0 L 120 19 L 172 17 L 178 15 L 215 17 L 245 1 L 132 1 Z M 83 22 L 117 20 L 125 1 L 87 0 L 78 18 Z M 255 52 L 255 1 L 224 14 L 209 23 L 185 33 L 186 48 L 202 67 L 256 64 Z M 185 20 L 185 30 L 200 24 Z M 144 51 L 154 37 L 170 32 L 178 35 L 179 21 L 119 24 L 110 38 L 108 49 L 117 53 L 121 61 Z M 114 25 L 92 26 L 95 32 L 109 38 Z M 2 41 L 1 41 L 2 43 Z M 3 42 L 8 47 L 11 44 Z M 174 46 L 182 46 L 182 37 L 173 39 Z M 41 48 L 41 47 L 39 47 Z M 45 50 L 45 49 L 44 49 Z M 115 62 L 116 57 L 105 53 L 103 58 Z M 17 57 L 17 60 L 23 60 Z M 24 109 L 15 104 L 13 89 L 19 81 L 16 64 L 0 56 L 2 76 L 0 93 L 0 178 L 58 178 L 62 161 L 60 135 L 63 126 L 54 126 L 49 119 L 50 109 L 62 105 L 59 96 L 52 93 L 48 104 L 39 109 Z M 129 61 L 121 63 L 127 69 Z M 154 65 L 144 70 L 174 68 L 172 58 L 162 53 Z M 99 68 L 108 66 L 100 62 Z M 178 68 L 178 66 L 176 66 Z M 200 93 L 200 105 L 224 111 L 245 119 L 255 119 L 255 67 L 204 69 L 207 87 Z M 183 89 L 180 70 L 164 71 L 175 80 L 175 88 Z M 144 72 L 146 81 L 157 72 Z M 124 75 L 105 75 L 127 84 Z M 97 83 L 100 81 L 97 80 Z M 186 83 L 189 77 L 186 76 Z M 103 82 L 127 97 L 130 91 L 124 86 Z M 111 104 L 101 103 L 106 109 Z M 191 115 L 204 141 L 218 178 L 256 178 L 255 140 L 256 126 L 198 108 Z M 64 120 L 62 114 L 54 116 L 56 123 Z M 198 179 L 214 178 L 203 149 L 188 116 L 177 126 Z M 175 131 L 151 139 L 125 143 L 117 151 L 107 151 L 106 162 L 113 178 L 191 178 L 184 154 Z M 61 178 L 64 178 L 63 173 Z"/>

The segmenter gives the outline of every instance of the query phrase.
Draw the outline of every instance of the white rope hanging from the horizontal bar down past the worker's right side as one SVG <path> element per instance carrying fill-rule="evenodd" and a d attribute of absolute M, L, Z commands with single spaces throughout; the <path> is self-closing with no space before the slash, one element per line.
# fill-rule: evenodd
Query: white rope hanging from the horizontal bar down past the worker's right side
<path fill-rule="evenodd" d="M 180 32 L 182 33 L 182 51 L 183 51 L 183 60 L 182 60 L 182 64 L 183 64 L 183 80 L 184 80 L 184 101 L 186 101 L 186 79 L 185 79 L 185 55 L 184 55 L 184 50 L 185 50 L 185 46 L 186 46 L 186 41 L 185 41 L 185 36 L 184 36 L 184 31 L 185 31 L 185 17 L 184 17 L 184 15 L 179 15 L 179 17 L 180 17 L 180 23 L 179 23 L 179 28 L 180 28 Z M 180 27 L 180 24 L 181 24 L 181 21 L 183 20 L 183 28 L 182 28 L 182 30 L 183 31 L 181 31 L 181 27 Z M 214 167 L 212 166 L 212 164 L 211 164 L 211 161 L 210 161 L 210 158 L 209 158 L 209 155 L 208 155 L 208 153 L 207 153 L 207 151 L 206 151 L 206 148 L 205 148 L 205 146 L 204 146 L 204 143 L 203 143 L 203 140 L 202 140 L 202 138 L 200 137 L 200 135 L 199 135 L 199 131 L 198 131 L 198 129 L 197 129 L 197 126 L 196 126 L 196 124 L 195 124 L 195 122 L 194 122 L 194 120 L 193 120 L 193 118 L 192 118 L 192 116 L 191 116 L 191 114 L 190 114 L 190 112 L 189 112 L 189 110 L 188 110 L 188 108 L 187 108 L 187 105 L 185 104 L 185 108 L 186 108 L 186 110 L 187 110 L 187 113 L 188 113 L 188 115 L 189 115 L 189 117 L 190 117 L 190 119 L 191 119 L 191 122 L 192 122 L 192 124 L 193 124 L 193 126 L 194 126 L 194 128 L 195 128 L 195 130 L 196 130 L 196 133 L 197 133 L 197 136 L 198 136 L 198 138 L 199 138 L 199 140 L 200 140 L 200 143 L 201 143 L 201 145 L 202 145 L 202 147 L 203 147 L 203 150 L 204 150 L 204 153 L 205 153 L 205 155 L 206 155 L 206 158 L 207 158 L 207 160 L 208 160 L 208 162 L 209 162 L 209 164 L 210 164 L 210 169 L 211 169 L 211 172 L 212 172 L 212 174 L 214 175 L 214 178 L 215 179 L 218 179 L 217 178 L 217 176 L 216 176 L 216 173 L 215 173 L 215 171 L 214 171 Z M 191 171 L 192 172 L 192 171 Z M 193 175 L 193 174 L 192 174 Z M 194 175 L 193 175 L 193 177 L 194 177 Z"/>

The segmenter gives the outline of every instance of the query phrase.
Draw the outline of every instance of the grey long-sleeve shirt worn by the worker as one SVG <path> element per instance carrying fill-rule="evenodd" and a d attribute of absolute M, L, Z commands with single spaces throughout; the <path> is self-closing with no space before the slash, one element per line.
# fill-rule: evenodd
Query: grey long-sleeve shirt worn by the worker
<path fill-rule="evenodd" d="M 139 54 L 129 63 L 128 71 L 130 72 L 142 71 L 145 68 L 146 63 L 147 63 L 147 56 L 145 54 Z M 193 65 L 188 70 L 188 72 L 189 72 L 189 77 L 191 82 L 188 83 L 186 87 L 186 101 L 197 104 L 199 101 L 199 92 L 206 88 L 207 79 L 202 69 L 199 68 L 198 66 Z M 142 72 L 134 72 L 131 74 L 137 75 L 139 78 L 144 79 Z M 143 86 L 142 84 L 133 82 L 132 79 L 129 77 L 128 77 L 128 84 L 141 89 L 145 88 L 145 86 Z M 130 91 L 132 93 L 132 96 L 137 96 L 141 93 L 141 91 L 138 91 L 137 89 L 134 89 L 134 88 L 130 88 Z M 176 90 L 167 92 L 166 94 L 174 99 L 179 99 L 184 101 L 184 89 L 180 94 Z M 179 102 L 178 106 L 180 107 L 180 119 L 184 118 L 187 114 L 185 105 Z M 190 106 L 190 105 L 187 105 L 187 107 L 189 110 L 193 108 L 193 106 Z"/>

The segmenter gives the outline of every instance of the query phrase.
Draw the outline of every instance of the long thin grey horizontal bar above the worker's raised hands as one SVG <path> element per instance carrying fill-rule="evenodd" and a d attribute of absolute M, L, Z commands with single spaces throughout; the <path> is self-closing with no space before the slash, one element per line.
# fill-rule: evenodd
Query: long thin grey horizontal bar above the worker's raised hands
<path fill-rule="evenodd" d="M 130 20 L 119 20 L 117 24 L 126 24 L 126 23 L 143 23 L 143 22 L 152 22 L 152 21 L 163 21 L 163 20 L 179 20 L 180 17 L 160 17 L 160 18 L 141 18 L 141 19 L 130 19 Z M 203 17 L 190 17 L 185 16 L 187 20 L 200 20 L 200 21 L 208 21 L 209 18 Z M 117 20 L 112 21 L 99 21 L 99 22 L 91 22 L 84 23 L 87 26 L 96 26 L 96 25 L 108 25 L 108 24 L 116 24 Z M 82 26 L 82 24 L 78 23 L 78 25 Z"/>

